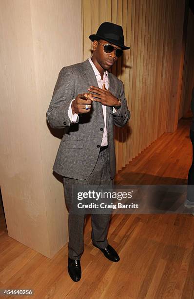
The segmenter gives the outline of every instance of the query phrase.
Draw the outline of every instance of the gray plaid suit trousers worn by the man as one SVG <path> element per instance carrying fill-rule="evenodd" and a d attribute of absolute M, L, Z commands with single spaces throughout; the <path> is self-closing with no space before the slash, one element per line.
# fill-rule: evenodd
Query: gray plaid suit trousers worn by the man
<path fill-rule="evenodd" d="M 73 214 L 71 212 L 72 204 L 72 186 L 73 185 L 112 185 L 110 178 L 108 149 L 99 152 L 96 166 L 90 176 L 85 180 L 77 180 L 63 177 L 63 186 L 65 202 L 69 211 L 68 231 L 69 231 L 69 257 L 80 259 L 84 250 L 83 229 L 85 215 Z M 92 241 L 99 248 L 106 248 L 108 245 L 107 233 L 110 221 L 110 214 L 92 214 Z"/>

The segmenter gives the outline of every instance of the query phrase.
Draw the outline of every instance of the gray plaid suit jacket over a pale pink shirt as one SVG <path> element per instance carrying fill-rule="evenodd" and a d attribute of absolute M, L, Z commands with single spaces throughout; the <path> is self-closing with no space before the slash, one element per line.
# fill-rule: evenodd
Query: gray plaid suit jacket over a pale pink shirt
<path fill-rule="evenodd" d="M 110 72 L 108 77 L 110 92 L 122 102 L 115 113 L 112 107 L 106 107 L 110 177 L 114 178 L 116 172 L 114 125 L 123 127 L 130 118 L 130 112 L 122 81 Z M 64 128 L 53 170 L 62 176 L 79 180 L 88 178 L 97 163 L 104 129 L 102 104 L 93 102 L 91 111 L 79 114 L 76 123 L 71 123 L 68 109 L 71 101 L 79 93 L 88 92 L 87 88 L 90 85 L 98 86 L 88 59 L 83 63 L 63 67 L 59 72 L 46 113 L 47 121 L 52 128 Z"/>

